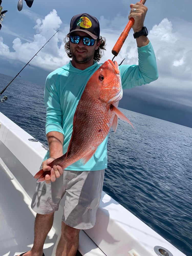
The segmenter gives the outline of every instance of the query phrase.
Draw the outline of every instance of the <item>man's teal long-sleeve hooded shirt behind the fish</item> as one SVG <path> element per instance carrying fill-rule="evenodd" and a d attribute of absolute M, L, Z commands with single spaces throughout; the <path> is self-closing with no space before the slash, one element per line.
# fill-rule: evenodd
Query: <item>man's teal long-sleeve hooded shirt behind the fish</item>
<path fill-rule="evenodd" d="M 91 67 L 84 70 L 74 68 L 71 61 L 51 72 L 45 83 L 46 106 L 46 134 L 57 131 L 64 135 L 63 154 L 67 148 L 73 131 L 73 116 L 84 88 L 92 74 L 102 65 L 94 62 Z M 138 47 L 138 65 L 119 66 L 123 89 L 141 86 L 155 81 L 158 78 L 156 58 L 151 42 Z M 108 136 L 98 146 L 91 159 L 83 165 L 77 161 L 68 166 L 66 170 L 92 171 L 107 167 Z M 49 158 L 49 150 L 44 160 Z"/>

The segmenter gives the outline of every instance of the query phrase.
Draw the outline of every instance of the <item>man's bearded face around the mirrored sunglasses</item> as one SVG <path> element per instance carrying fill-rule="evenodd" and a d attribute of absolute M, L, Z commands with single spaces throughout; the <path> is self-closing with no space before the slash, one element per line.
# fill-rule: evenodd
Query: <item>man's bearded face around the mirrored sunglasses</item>
<path fill-rule="evenodd" d="M 85 36 L 90 38 L 90 36 L 87 33 L 82 31 L 75 31 L 73 34 L 77 36 Z M 82 39 L 79 41 L 78 44 L 74 44 L 70 41 L 69 44 L 73 61 L 77 63 L 89 63 L 90 61 L 93 62 L 94 53 L 95 50 L 99 48 L 100 41 L 98 42 L 97 40 L 95 40 L 93 46 L 84 45 Z"/>

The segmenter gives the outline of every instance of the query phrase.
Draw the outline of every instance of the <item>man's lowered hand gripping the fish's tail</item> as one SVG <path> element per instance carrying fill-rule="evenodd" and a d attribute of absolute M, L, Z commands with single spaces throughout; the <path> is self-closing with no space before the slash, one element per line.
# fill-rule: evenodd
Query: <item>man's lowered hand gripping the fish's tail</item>
<path fill-rule="evenodd" d="M 63 168 L 59 165 L 54 165 L 53 168 L 49 166 L 49 164 L 55 160 L 56 158 L 50 157 L 44 162 L 42 162 L 42 169 L 45 171 L 51 171 L 51 176 L 48 174 L 45 176 L 45 182 L 49 184 L 50 182 L 54 182 L 56 178 L 59 178 L 63 174 Z"/>

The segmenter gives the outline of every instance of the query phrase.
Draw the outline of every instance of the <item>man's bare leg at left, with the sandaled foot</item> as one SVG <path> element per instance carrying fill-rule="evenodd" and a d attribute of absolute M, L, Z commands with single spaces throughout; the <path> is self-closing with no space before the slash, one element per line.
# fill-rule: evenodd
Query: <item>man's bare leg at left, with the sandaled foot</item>
<path fill-rule="evenodd" d="M 54 212 L 50 214 L 37 214 L 35 218 L 35 236 L 33 247 L 30 251 L 26 252 L 24 256 L 42 256 L 43 245 L 49 230 L 53 225 Z"/>

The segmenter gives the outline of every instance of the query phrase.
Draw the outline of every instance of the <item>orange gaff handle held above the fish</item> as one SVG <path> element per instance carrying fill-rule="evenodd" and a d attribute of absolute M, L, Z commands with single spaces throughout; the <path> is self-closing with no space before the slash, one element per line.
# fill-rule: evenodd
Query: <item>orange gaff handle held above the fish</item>
<path fill-rule="evenodd" d="M 141 0 L 140 3 L 145 4 L 146 0 Z M 127 38 L 129 31 L 131 30 L 132 26 L 134 24 L 134 19 L 131 18 L 129 20 L 129 22 L 127 23 L 125 29 L 123 30 L 123 32 L 121 33 L 120 37 L 118 38 L 118 40 L 116 41 L 116 44 L 114 45 L 113 49 L 112 49 L 112 54 L 114 56 L 117 56 L 118 53 L 121 50 L 121 47 L 124 44 L 125 39 Z"/>

